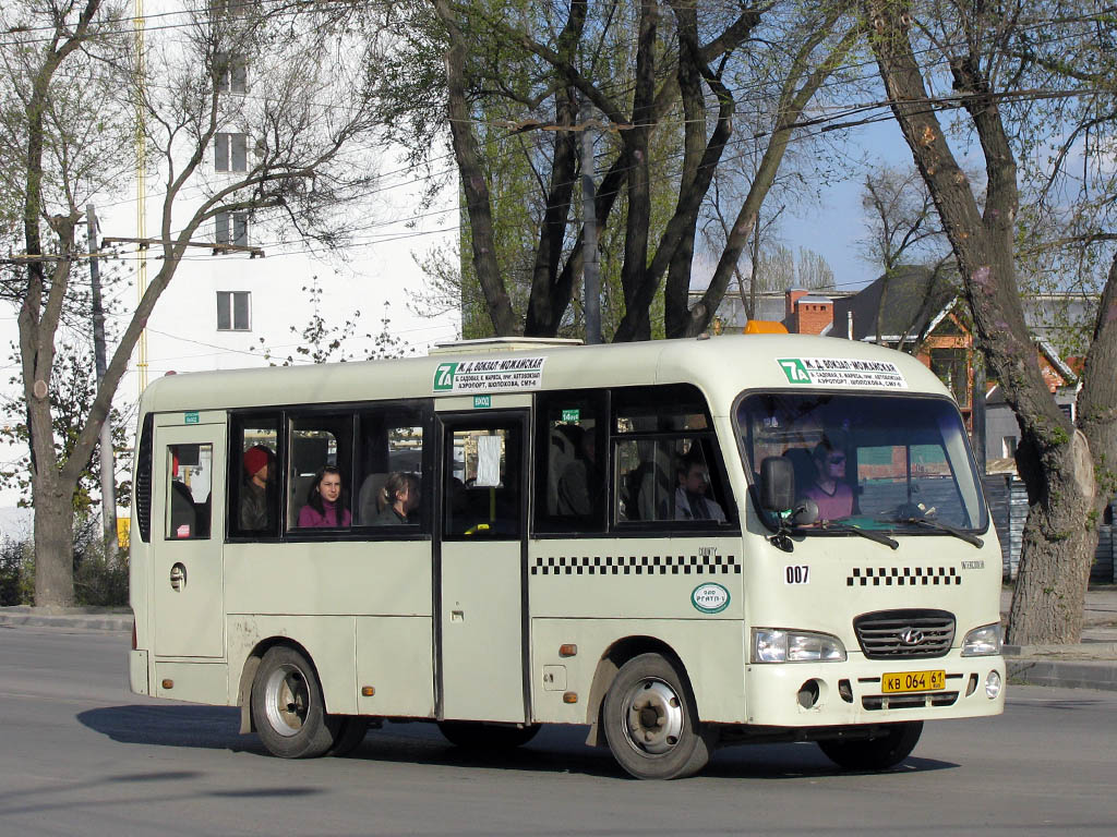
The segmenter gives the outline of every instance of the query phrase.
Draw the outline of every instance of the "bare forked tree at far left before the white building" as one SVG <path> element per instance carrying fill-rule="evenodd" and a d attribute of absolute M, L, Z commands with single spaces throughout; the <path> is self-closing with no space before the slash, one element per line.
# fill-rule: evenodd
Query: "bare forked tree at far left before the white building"
<path fill-rule="evenodd" d="M 6 279 L 7 296 L 20 305 L 37 604 L 73 598 L 71 498 L 132 350 L 188 248 L 221 247 L 209 224 L 237 212 L 281 215 L 296 234 L 327 244 L 344 239 L 344 204 L 372 183 L 365 141 L 375 127 L 362 74 L 375 41 L 350 33 L 340 16 L 351 13 L 281 0 L 212 3 L 149 33 L 141 55 L 123 4 L 19 0 L 4 7 L 4 157 L 18 161 L 4 166 L 4 189 L 21 201 L 27 253 L 26 268 Z M 75 85 L 89 89 L 77 95 Z M 121 97 L 122 89 L 130 96 Z M 113 103 L 120 103 L 115 113 Z M 75 225 L 89 173 L 106 161 L 130 160 L 121 145 L 136 121 L 146 163 L 162 182 L 147 242 L 161 260 L 69 456 L 59 459 L 52 375 L 80 259 Z M 23 142 L 8 145 L 10 137 Z M 105 153 L 109 142 L 114 154 Z M 92 182 L 97 193 L 112 185 L 106 177 Z"/>

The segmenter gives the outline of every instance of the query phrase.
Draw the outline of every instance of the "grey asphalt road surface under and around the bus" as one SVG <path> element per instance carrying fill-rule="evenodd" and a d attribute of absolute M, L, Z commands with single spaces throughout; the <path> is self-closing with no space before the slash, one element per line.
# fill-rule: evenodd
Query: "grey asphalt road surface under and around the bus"
<path fill-rule="evenodd" d="M 584 730 L 499 759 L 428 724 L 353 757 L 284 761 L 237 711 L 125 682 L 126 634 L 0 628 L 0 837 L 19 835 L 1023 835 L 1117 830 L 1117 693 L 1010 687 L 985 721 L 928 724 L 887 773 L 813 744 L 719 751 L 699 777 L 628 779 Z"/>

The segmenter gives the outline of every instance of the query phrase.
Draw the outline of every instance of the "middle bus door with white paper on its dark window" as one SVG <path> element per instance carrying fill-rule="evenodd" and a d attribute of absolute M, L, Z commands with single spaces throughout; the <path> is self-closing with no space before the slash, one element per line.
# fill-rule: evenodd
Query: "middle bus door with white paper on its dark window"
<path fill-rule="evenodd" d="M 527 413 L 440 419 L 439 716 L 519 723 Z"/>

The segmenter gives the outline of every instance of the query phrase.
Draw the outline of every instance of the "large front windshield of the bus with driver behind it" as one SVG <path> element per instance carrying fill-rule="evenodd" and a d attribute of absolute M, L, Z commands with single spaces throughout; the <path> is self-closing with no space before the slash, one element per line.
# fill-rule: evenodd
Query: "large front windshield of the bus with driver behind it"
<path fill-rule="evenodd" d="M 766 458 L 787 459 L 796 504 L 814 500 L 819 529 L 839 520 L 878 530 L 987 526 L 965 427 L 946 400 L 757 393 L 741 400 L 735 421 L 754 482 Z"/>

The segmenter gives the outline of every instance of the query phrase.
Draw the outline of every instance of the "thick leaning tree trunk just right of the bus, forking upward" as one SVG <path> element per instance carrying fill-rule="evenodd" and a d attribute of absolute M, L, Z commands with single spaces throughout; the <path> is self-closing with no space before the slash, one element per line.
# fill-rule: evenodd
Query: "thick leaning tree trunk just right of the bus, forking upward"
<path fill-rule="evenodd" d="M 908 3 L 867 0 L 865 10 L 892 114 L 958 260 L 977 340 L 1020 423 L 1016 465 L 1029 512 L 1008 639 L 1016 645 L 1078 642 L 1098 537 L 1091 513 L 1094 466 L 1087 437 L 1059 411 L 1040 375 L 1024 323 L 1013 254 L 1015 160 L 997 99 L 978 69 L 978 56 L 952 57 L 955 88 L 970 94 L 965 108 L 985 155 L 982 212 L 935 110 L 926 105 L 929 97 L 908 38 Z"/>

